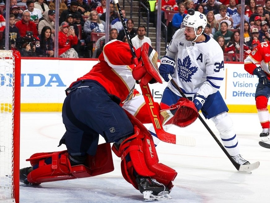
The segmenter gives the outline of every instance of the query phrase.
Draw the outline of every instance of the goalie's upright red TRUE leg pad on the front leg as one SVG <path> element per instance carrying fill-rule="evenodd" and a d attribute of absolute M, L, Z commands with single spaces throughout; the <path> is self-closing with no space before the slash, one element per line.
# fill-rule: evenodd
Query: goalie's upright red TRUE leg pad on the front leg
<path fill-rule="evenodd" d="M 134 135 L 125 139 L 120 146 L 114 144 L 112 147 L 113 152 L 121 157 L 121 171 L 124 179 L 138 189 L 137 175 L 151 177 L 171 189 L 172 181 L 177 175 L 176 171 L 159 163 L 149 131 L 132 115 L 128 117 L 134 125 Z"/>

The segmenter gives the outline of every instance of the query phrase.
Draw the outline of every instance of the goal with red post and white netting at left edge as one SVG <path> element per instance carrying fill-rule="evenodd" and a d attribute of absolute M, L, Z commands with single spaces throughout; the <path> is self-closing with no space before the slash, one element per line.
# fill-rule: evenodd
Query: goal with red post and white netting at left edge
<path fill-rule="evenodd" d="M 0 50 L 0 203 L 19 203 L 20 52 Z"/>

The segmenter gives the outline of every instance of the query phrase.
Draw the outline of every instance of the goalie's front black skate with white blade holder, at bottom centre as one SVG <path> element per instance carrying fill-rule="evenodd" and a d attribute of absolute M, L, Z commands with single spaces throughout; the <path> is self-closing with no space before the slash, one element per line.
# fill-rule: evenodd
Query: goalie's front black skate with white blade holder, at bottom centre
<path fill-rule="evenodd" d="M 172 199 L 169 189 L 155 179 L 138 176 L 136 181 L 145 201 Z"/>

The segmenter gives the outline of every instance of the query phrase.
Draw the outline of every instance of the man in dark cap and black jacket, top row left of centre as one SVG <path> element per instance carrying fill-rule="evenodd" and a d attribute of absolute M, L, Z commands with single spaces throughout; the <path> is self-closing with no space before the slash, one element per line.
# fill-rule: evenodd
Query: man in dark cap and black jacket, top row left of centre
<path fill-rule="evenodd" d="M 81 27 L 84 26 L 85 21 L 83 20 L 81 13 L 78 12 L 78 2 L 77 1 L 72 1 L 70 3 L 70 7 L 67 10 L 64 10 L 59 18 L 59 24 L 64 22 L 66 20 L 67 14 L 72 14 L 74 17 L 74 23 L 75 24 L 81 24 Z"/>

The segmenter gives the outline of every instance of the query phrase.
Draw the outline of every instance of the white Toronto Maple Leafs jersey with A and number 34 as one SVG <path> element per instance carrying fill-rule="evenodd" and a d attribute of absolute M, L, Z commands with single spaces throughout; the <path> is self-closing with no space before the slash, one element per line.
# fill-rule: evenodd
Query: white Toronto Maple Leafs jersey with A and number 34
<path fill-rule="evenodd" d="M 187 97 L 197 93 L 207 98 L 217 92 L 224 78 L 223 51 L 216 40 L 204 36 L 204 42 L 187 41 L 183 29 L 178 29 L 166 50 L 175 59 L 172 77 Z M 181 96 L 171 82 L 168 87 Z"/>

